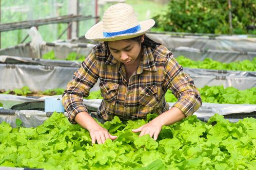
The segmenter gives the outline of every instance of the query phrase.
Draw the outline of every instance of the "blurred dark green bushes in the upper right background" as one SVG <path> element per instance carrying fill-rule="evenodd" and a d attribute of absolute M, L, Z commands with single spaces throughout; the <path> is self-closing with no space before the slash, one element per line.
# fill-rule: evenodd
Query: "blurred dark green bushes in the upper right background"
<path fill-rule="evenodd" d="M 232 25 L 229 25 L 228 0 L 170 0 L 168 10 L 154 17 L 158 31 L 206 34 L 256 34 L 256 0 L 231 0 Z"/>

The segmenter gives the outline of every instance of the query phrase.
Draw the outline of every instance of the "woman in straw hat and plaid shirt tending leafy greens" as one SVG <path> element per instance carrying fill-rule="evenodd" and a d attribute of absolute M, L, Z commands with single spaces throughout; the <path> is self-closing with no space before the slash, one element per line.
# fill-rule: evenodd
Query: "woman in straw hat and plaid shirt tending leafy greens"
<path fill-rule="evenodd" d="M 86 34 L 87 39 L 102 41 L 75 72 L 63 94 L 63 105 L 71 123 L 87 129 L 92 143 L 104 143 L 112 136 L 87 113 L 82 103 L 99 79 L 103 100 L 93 117 L 111 120 L 145 119 L 159 116 L 134 129 L 139 136 L 149 134 L 156 140 L 163 125 L 192 115 L 201 105 L 193 80 L 183 72 L 171 51 L 149 39 L 145 33 L 153 19 L 138 22 L 133 8 L 125 3 L 109 7 L 103 21 Z M 169 109 L 164 95 L 170 89 L 178 101 Z"/>

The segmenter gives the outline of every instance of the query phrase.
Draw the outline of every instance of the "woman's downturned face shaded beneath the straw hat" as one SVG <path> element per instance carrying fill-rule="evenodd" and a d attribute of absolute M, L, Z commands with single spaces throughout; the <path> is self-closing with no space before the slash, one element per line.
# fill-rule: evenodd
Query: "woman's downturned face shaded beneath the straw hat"
<path fill-rule="evenodd" d="M 140 42 L 143 41 L 144 36 L 141 36 Z M 114 58 L 124 65 L 132 65 L 135 61 L 139 61 L 141 43 L 138 41 L 132 39 L 109 41 L 108 47 Z"/>

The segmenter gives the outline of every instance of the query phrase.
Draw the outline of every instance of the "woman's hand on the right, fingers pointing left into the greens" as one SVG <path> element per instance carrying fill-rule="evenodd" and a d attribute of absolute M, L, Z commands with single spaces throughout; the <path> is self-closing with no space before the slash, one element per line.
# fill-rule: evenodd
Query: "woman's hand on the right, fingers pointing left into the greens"
<path fill-rule="evenodd" d="M 147 124 L 140 126 L 138 129 L 132 129 L 132 131 L 134 133 L 140 132 L 139 137 L 149 134 L 150 137 L 154 136 L 154 139 L 157 140 L 158 135 L 162 130 L 162 126 L 163 124 L 160 121 L 158 121 L 158 119 L 153 119 Z"/>

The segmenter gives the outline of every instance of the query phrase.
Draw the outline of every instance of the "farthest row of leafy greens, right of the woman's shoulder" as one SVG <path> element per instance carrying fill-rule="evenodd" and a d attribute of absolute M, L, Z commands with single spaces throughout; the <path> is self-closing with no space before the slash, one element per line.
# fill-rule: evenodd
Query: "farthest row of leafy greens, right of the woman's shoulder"
<path fill-rule="evenodd" d="M 185 68 L 204 68 L 217 70 L 241 70 L 241 71 L 256 71 L 256 57 L 252 61 L 243 60 L 231 63 L 221 63 L 211 58 L 205 58 L 203 61 L 195 61 L 185 56 L 178 56 L 177 62 Z"/>

